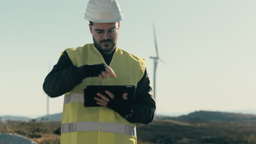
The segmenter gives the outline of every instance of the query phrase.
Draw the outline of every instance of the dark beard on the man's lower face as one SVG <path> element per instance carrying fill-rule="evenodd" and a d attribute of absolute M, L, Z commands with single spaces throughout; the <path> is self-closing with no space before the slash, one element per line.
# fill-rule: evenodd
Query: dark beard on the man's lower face
<path fill-rule="evenodd" d="M 92 35 L 92 39 L 94 40 L 95 47 L 100 52 L 110 52 L 113 49 L 115 49 L 115 46 L 117 45 L 114 43 L 114 40 L 110 39 L 110 38 L 103 39 L 103 40 L 100 40 L 99 42 L 97 42 L 96 39 L 94 38 L 94 35 Z M 106 42 L 108 42 L 108 43 L 106 43 Z"/>

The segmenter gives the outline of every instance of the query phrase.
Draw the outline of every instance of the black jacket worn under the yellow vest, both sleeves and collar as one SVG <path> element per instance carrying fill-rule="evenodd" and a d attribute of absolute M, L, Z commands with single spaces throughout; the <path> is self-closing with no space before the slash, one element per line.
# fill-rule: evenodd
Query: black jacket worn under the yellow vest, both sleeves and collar
<path fill-rule="evenodd" d="M 114 52 L 113 52 L 114 53 Z M 106 55 L 101 53 L 106 64 L 109 65 L 113 53 Z M 73 65 L 66 51 L 63 52 L 59 61 L 54 65 L 53 70 L 45 77 L 43 89 L 51 98 L 59 97 L 79 85 L 84 79 L 84 68 Z M 148 124 L 153 121 L 155 111 L 155 100 L 152 98 L 147 70 L 144 76 L 137 83 L 135 103 L 132 105 L 132 112 L 128 121 L 133 123 Z"/>

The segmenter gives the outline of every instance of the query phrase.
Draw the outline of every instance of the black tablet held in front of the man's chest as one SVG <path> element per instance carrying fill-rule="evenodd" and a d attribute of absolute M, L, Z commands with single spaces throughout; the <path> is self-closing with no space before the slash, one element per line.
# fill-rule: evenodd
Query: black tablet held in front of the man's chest
<path fill-rule="evenodd" d="M 98 97 L 96 93 L 101 93 L 105 97 L 111 99 L 105 91 L 109 91 L 115 95 L 115 98 L 124 100 L 123 94 L 128 93 L 127 100 L 134 100 L 135 95 L 135 86 L 87 86 L 84 89 L 84 106 L 102 106 L 96 104 L 97 100 L 95 97 Z M 98 97 L 100 98 L 100 97 Z"/>

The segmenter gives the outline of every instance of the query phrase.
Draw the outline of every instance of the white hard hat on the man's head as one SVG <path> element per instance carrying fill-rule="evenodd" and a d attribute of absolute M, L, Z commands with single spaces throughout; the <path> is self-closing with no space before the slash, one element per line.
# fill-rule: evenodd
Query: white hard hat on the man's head
<path fill-rule="evenodd" d="M 84 19 L 92 22 L 117 22 L 123 14 L 117 0 L 89 0 Z"/>

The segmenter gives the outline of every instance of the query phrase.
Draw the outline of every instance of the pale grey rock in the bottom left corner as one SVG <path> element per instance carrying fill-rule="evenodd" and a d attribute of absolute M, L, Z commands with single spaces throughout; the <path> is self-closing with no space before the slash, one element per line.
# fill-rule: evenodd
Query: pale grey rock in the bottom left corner
<path fill-rule="evenodd" d="M 24 136 L 13 135 L 13 134 L 1 134 L 0 143 L 2 144 L 38 144 Z"/>

